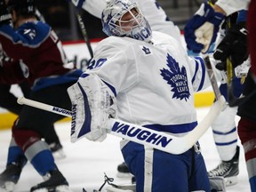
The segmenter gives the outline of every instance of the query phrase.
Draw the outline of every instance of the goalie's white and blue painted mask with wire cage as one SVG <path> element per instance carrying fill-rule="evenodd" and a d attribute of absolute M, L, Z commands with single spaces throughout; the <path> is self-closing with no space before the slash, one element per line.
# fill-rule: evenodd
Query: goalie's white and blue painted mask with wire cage
<path fill-rule="evenodd" d="M 110 0 L 101 15 L 104 33 L 108 36 L 130 36 L 149 42 L 152 30 L 136 3 Z"/>

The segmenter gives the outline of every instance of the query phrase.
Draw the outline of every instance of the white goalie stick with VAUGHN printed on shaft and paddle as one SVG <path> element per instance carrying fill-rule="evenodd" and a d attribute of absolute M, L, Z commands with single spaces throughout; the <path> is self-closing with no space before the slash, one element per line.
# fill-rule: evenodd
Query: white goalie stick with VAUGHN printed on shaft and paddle
<path fill-rule="evenodd" d="M 30 107 L 44 109 L 45 111 L 50 111 L 62 116 L 72 117 L 72 111 L 67 109 L 54 107 L 35 100 L 28 100 L 24 97 L 18 98 L 17 101 L 20 105 L 25 104 Z M 204 132 L 206 132 L 210 127 L 215 117 L 219 115 L 224 103 L 224 97 L 220 97 L 220 100 L 214 103 L 200 124 L 198 124 L 193 131 L 188 132 L 188 134 L 183 137 L 175 137 L 165 132 L 156 132 L 146 127 L 126 123 L 114 118 L 109 119 L 107 129 L 111 130 L 111 132 L 109 132 L 110 134 L 116 135 L 117 137 L 132 140 L 151 148 L 156 148 L 167 153 L 178 155 L 193 147 L 196 141 L 199 140 Z"/>

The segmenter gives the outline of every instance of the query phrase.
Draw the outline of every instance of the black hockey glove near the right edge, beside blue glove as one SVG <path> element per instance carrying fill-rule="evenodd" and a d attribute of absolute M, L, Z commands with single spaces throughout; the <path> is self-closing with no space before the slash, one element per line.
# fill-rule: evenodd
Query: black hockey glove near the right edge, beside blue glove
<path fill-rule="evenodd" d="M 227 35 L 223 38 L 217 46 L 213 54 L 215 60 L 220 60 L 216 68 L 219 70 L 227 70 L 227 58 L 231 57 L 233 68 L 244 63 L 247 60 L 248 44 L 247 35 L 248 31 L 245 28 L 245 22 L 239 22 L 228 29 Z"/>

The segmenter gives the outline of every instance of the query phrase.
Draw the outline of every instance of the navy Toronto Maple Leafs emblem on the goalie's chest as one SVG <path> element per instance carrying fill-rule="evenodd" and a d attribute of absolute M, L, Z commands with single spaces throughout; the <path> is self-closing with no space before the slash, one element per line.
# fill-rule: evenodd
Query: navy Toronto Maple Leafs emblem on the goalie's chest
<path fill-rule="evenodd" d="M 190 93 L 188 89 L 188 77 L 187 71 L 184 66 L 180 68 L 179 63 L 172 58 L 170 54 L 167 54 L 167 66 L 169 69 L 161 69 L 161 76 L 170 84 L 173 92 L 172 98 L 180 100 L 188 100 Z"/>

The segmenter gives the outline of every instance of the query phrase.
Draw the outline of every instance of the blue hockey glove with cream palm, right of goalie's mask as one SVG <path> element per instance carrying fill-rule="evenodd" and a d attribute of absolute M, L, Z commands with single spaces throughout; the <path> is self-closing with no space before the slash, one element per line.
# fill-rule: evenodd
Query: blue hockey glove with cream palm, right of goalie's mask
<path fill-rule="evenodd" d="M 188 50 L 193 52 L 207 52 L 210 45 L 215 42 L 222 20 L 225 16 L 214 12 L 207 2 L 201 4 L 199 10 L 184 28 L 184 37 Z"/>

